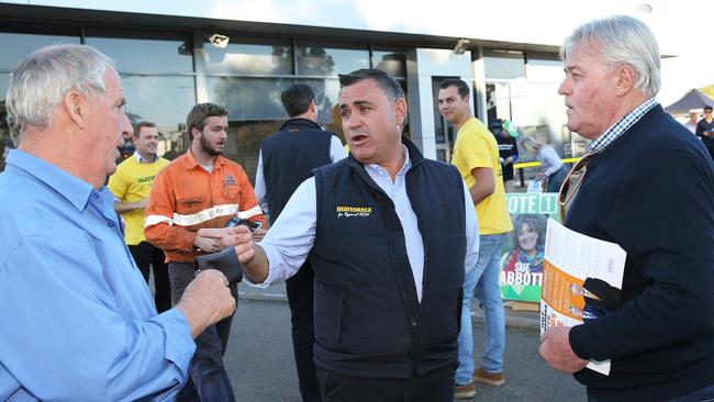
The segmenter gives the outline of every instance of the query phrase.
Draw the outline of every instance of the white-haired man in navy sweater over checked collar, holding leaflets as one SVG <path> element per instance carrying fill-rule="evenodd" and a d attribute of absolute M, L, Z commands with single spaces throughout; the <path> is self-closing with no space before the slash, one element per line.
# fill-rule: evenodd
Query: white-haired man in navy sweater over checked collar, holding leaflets
<path fill-rule="evenodd" d="M 568 129 L 592 141 L 560 190 L 564 223 L 627 259 L 616 309 L 549 328 L 540 355 L 591 402 L 712 400 L 712 159 L 655 100 L 659 48 L 640 21 L 589 22 L 561 55 Z M 591 359 L 610 359 L 610 375 L 584 369 Z"/>

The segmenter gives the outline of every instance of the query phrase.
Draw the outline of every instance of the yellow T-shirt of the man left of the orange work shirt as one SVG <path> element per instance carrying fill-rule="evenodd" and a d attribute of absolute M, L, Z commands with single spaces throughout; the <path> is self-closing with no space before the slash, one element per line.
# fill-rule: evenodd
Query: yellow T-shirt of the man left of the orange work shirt
<path fill-rule="evenodd" d="M 140 163 L 138 154 L 124 159 L 116 167 L 116 171 L 109 178 L 107 187 L 120 202 L 136 202 L 148 197 L 154 185 L 154 177 L 166 165 L 168 159 L 158 157 L 155 163 Z M 135 246 L 144 241 L 144 210 L 134 210 L 122 215 L 126 227 L 124 228 L 124 241 L 130 246 Z"/>

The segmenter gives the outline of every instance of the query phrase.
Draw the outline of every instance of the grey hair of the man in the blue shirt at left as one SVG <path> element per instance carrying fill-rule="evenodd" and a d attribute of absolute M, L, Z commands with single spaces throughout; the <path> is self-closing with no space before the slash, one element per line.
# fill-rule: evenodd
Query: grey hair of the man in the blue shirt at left
<path fill-rule="evenodd" d="M 12 72 L 8 86 L 8 126 L 13 141 L 25 124 L 47 126 L 67 92 L 88 97 L 104 93 L 111 58 L 87 45 L 53 45 L 33 52 Z"/>

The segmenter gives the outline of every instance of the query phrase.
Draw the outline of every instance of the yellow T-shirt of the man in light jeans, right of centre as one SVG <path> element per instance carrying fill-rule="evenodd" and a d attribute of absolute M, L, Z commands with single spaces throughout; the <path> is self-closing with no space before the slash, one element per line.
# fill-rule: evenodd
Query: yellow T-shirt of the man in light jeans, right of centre
<path fill-rule="evenodd" d="M 491 196 L 476 205 L 479 234 L 501 234 L 512 231 L 513 224 L 505 204 L 499 145 L 493 134 L 478 119 L 467 120 L 456 134 L 451 165 L 459 170 L 469 189 L 476 183 L 476 179 L 471 176 L 473 168 L 491 168 L 495 189 Z"/>

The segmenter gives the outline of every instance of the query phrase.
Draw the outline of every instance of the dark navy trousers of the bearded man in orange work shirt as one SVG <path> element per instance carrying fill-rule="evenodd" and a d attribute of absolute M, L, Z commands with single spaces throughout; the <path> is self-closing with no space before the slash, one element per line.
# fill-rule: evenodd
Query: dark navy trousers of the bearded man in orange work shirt
<path fill-rule="evenodd" d="M 193 280 L 193 264 L 169 263 L 171 298 L 178 303 L 186 287 Z M 231 291 L 237 294 L 237 284 Z M 196 353 L 189 365 L 190 377 L 176 395 L 176 401 L 235 401 L 233 387 L 223 367 L 233 315 L 211 325 L 196 338 Z"/>

